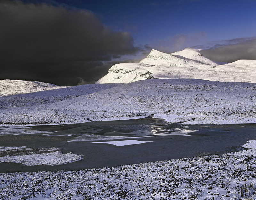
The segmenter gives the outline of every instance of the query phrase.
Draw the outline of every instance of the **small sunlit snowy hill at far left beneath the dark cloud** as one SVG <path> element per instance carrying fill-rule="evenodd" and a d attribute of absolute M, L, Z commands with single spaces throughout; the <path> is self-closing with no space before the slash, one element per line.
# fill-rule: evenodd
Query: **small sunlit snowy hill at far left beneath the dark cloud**
<path fill-rule="evenodd" d="M 12 94 L 24 94 L 30 92 L 38 92 L 44 90 L 52 90 L 64 88 L 58 85 L 43 83 L 39 81 L 23 81 L 23 80 L 0 80 L 0 97 Z"/>

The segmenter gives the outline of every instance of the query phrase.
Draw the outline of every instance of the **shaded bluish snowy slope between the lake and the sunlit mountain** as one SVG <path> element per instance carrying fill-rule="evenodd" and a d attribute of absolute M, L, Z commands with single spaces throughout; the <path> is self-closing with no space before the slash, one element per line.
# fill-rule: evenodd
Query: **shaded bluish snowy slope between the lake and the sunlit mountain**
<path fill-rule="evenodd" d="M 71 124 L 150 115 L 183 124 L 256 122 L 256 83 L 150 79 L 91 84 L 74 92 L 77 87 L 1 97 L 0 124 Z"/>

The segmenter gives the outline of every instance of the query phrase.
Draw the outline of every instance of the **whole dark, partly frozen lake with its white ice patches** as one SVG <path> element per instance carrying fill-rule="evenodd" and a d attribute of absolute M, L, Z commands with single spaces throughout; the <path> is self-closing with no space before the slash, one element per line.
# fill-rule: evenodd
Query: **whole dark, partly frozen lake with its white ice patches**
<path fill-rule="evenodd" d="M 243 150 L 256 124 L 181 125 L 154 118 L 0 126 L 0 172 L 79 170 Z"/>

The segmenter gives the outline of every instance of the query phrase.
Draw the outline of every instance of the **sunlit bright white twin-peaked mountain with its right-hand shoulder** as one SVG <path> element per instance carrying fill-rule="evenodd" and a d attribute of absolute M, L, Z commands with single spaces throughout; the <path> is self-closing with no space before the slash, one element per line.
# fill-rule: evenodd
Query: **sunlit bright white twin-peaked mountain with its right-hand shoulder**
<path fill-rule="evenodd" d="M 225 65 L 185 49 L 167 54 L 152 50 L 140 63 L 116 64 L 96 83 L 131 83 L 152 78 L 196 78 L 211 81 L 256 83 L 256 60 L 238 60 Z"/>

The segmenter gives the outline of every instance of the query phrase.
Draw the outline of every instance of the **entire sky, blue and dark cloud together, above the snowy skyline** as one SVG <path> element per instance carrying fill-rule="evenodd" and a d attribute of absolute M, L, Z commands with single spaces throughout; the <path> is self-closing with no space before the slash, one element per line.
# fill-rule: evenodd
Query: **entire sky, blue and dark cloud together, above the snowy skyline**
<path fill-rule="evenodd" d="M 151 49 L 256 60 L 256 0 L 0 0 L 0 79 L 92 84 Z"/>

